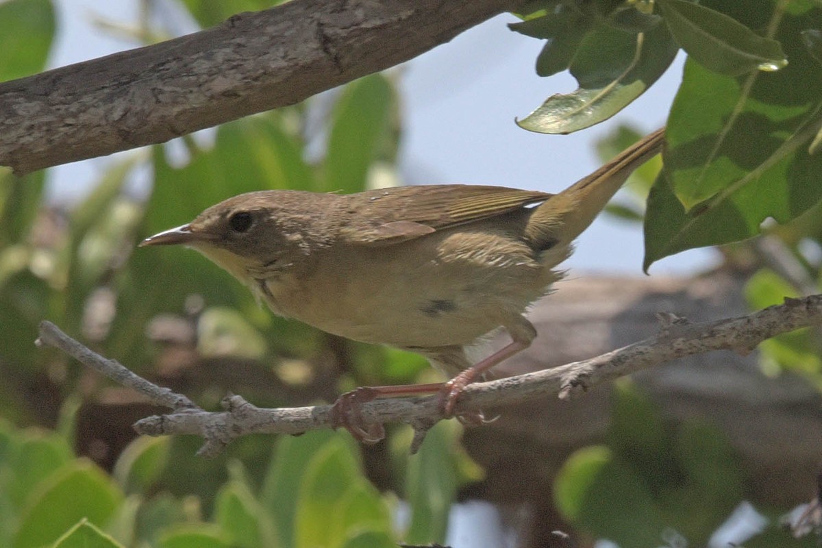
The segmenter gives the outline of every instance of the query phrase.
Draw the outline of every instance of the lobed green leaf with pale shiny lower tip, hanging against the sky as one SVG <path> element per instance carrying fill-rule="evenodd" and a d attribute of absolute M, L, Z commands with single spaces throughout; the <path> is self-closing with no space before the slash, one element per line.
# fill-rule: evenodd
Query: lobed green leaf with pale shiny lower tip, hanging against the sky
<path fill-rule="evenodd" d="M 580 87 L 549 97 L 517 123 L 529 131 L 571 133 L 603 122 L 657 81 L 676 54 L 664 25 L 639 35 L 600 25 L 585 36 L 570 64 Z"/>

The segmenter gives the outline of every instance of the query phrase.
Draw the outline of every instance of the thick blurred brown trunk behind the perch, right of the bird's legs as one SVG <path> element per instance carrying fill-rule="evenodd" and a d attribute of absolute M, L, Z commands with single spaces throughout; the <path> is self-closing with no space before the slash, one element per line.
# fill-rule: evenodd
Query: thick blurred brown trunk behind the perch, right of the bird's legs
<path fill-rule="evenodd" d="M 533 346 L 499 366 L 500 376 L 560 365 L 621 347 L 660 329 L 656 314 L 714 320 L 749 311 L 741 281 L 727 274 L 698 279 L 596 278 L 578 274 L 530 315 L 539 333 Z M 756 353 L 711 352 L 633 375 L 667 421 L 699 418 L 731 441 L 756 504 L 790 507 L 810 500 L 822 455 L 822 397 L 795 375 L 763 375 Z M 552 483 L 568 455 L 601 443 L 610 422 L 610 385 L 570 401 L 488 410 L 499 420 L 466 432 L 469 453 L 487 479 L 467 497 L 530 509 L 528 540 L 520 546 L 566 546 L 552 505 Z M 546 516 L 552 516 L 546 519 Z"/>

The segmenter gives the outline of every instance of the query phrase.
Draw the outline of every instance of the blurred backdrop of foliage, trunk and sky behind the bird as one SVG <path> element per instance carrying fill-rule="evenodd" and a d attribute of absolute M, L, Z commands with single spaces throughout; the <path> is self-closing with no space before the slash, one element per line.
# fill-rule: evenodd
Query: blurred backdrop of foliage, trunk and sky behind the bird
<path fill-rule="evenodd" d="M 266 7 L 248 3 L 8 0 L 0 81 Z M 168 548 L 815 542 L 793 539 L 781 520 L 815 495 L 816 332 L 748 357 L 677 362 L 570 403 L 492 410 L 501 418 L 481 428 L 443 422 L 413 457 L 411 432 L 395 426 L 369 448 L 315 432 L 249 436 L 198 458 L 200 440 L 135 439 L 132 423 L 162 409 L 34 347 L 39 321 L 52 320 L 209 409 L 229 391 L 288 407 L 437 379 L 416 355 L 276 318 L 192 251 L 135 246 L 244 191 L 457 182 L 560 191 L 665 123 L 682 58 L 590 131 L 517 127 L 515 117 L 576 85 L 535 75 L 542 43 L 511 32 L 515 21 L 496 17 L 386 73 L 166 145 L 22 178 L 0 168 L 0 546 L 48 545 L 82 517 L 122 546 Z M 640 170 L 580 237 L 568 279 L 535 306 L 537 342 L 501 374 L 648 337 L 658 312 L 709 320 L 818 291 L 807 219 L 672 256 L 644 277 L 642 204 L 659 165 Z"/>

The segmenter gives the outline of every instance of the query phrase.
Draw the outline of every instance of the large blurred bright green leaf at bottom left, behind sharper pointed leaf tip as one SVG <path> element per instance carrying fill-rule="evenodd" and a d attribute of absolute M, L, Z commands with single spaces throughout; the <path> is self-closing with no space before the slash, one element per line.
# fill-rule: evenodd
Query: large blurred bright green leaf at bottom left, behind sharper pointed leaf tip
<path fill-rule="evenodd" d="M 122 500 L 122 491 L 90 461 L 68 463 L 32 493 L 14 548 L 50 544 L 83 518 L 102 527 Z"/>

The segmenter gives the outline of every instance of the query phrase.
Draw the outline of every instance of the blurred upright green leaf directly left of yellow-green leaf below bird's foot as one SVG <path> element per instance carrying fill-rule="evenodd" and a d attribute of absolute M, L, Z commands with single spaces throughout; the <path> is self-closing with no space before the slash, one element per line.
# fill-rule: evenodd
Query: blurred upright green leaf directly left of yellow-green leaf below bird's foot
<path fill-rule="evenodd" d="M 315 454 L 339 434 L 330 430 L 307 432 L 301 436 L 280 436 L 274 457 L 263 482 L 261 501 L 274 520 L 280 546 L 294 546 L 298 493 L 302 476 Z"/>

